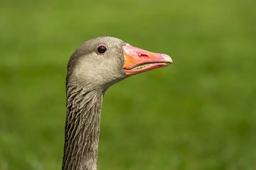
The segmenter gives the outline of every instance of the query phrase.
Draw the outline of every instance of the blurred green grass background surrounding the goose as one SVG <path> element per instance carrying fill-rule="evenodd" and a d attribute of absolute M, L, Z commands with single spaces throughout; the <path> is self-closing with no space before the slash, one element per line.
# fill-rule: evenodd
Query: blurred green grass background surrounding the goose
<path fill-rule="evenodd" d="M 174 64 L 106 92 L 99 170 L 255 170 L 255 6 L 1 1 L 0 170 L 61 169 L 67 61 L 103 35 Z"/>

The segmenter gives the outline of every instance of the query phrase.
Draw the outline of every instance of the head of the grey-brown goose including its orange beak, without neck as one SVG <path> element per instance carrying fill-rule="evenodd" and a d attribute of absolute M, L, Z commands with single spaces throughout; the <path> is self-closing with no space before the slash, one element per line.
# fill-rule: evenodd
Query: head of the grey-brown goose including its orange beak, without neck
<path fill-rule="evenodd" d="M 131 75 L 171 63 L 166 54 L 139 49 L 114 37 L 96 37 L 81 44 L 70 57 L 66 84 L 105 91 Z"/>

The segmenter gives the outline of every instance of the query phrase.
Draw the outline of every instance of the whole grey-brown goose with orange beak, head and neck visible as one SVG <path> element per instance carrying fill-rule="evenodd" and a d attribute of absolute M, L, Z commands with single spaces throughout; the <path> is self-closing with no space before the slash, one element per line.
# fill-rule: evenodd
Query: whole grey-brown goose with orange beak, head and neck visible
<path fill-rule="evenodd" d="M 62 170 L 97 170 L 102 99 L 113 84 L 172 63 L 115 37 L 96 37 L 71 55 L 66 77 L 66 125 Z"/>

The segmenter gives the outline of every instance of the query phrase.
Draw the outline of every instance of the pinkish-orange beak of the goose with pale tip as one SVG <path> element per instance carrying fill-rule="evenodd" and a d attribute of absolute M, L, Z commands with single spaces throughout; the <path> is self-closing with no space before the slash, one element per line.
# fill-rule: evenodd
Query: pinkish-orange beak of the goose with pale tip
<path fill-rule="evenodd" d="M 148 52 L 130 45 L 123 46 L 125 64 L 122 69 L 126 75 L 135 75 L 151 69 L 169 66 L 172 58 L 166 54 Z"/>

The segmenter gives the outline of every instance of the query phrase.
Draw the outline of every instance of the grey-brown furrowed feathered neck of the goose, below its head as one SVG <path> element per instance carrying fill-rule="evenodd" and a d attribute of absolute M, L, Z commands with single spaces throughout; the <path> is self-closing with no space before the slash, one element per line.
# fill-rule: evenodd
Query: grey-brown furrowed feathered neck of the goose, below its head
<path fill-rule="evenodd" d="M 67 87 L 62 170 L 96 170 L 103 92 Z"/>

